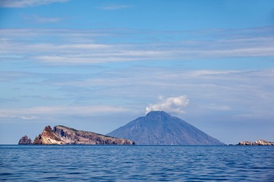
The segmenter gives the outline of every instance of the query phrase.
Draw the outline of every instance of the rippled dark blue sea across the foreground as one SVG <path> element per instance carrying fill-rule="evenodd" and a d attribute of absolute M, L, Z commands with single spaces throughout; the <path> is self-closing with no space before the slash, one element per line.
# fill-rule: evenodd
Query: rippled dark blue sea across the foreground
<path fill-rule="evenodd" d="M 0 145 L 0 181 L 274 181 L 274 147 Z"/>

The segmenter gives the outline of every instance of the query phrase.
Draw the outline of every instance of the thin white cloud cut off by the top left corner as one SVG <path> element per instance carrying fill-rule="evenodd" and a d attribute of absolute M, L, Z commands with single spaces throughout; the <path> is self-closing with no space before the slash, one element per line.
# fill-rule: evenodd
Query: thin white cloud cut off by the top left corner
<path fill-rule="evenodd" d="M 69 0 L 1 0 L 0 7 L 29 7 L 49 3 L 64 3 Z"/>

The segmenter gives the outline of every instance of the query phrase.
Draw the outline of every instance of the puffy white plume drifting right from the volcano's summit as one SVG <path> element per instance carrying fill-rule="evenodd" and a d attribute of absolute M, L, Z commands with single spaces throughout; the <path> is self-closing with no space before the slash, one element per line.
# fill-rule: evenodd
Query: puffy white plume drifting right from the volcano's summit
<path fill-rule="evenodd" d="M 155 110 L 163 110 L 166 112 L 186 113 L 183 109 L 188 106 L 189 100 L 186 95 L 179 97 L 159 97 L 160 102 L 158 104 L 149 104 L 146 108 L 146 114 Z"/>

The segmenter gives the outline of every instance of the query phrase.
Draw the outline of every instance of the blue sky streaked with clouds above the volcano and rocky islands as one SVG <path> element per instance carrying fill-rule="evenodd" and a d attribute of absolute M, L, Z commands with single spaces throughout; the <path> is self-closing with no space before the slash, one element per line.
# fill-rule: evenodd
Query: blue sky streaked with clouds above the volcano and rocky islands
<path fill-rule="evenodd" d="M 274 141 L 274 1 L 0 1 L 0 144 L 164 110 Z"/>

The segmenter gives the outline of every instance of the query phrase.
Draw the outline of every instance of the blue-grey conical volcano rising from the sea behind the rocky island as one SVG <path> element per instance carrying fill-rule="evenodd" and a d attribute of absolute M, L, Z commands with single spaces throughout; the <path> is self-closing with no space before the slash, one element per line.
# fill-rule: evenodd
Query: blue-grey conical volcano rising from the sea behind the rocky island
<path fill-rule="evenodd" d="M 196 127 L 164 111 L 151 111 L 107 134 L 137 145 L 224 145 Z"/>

